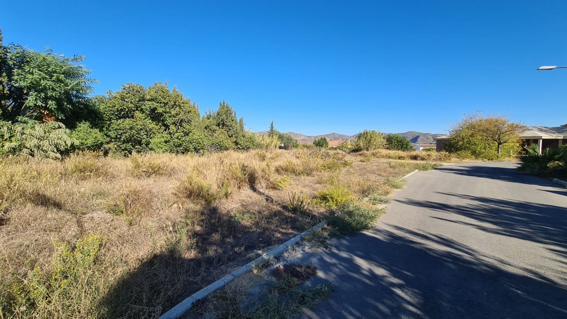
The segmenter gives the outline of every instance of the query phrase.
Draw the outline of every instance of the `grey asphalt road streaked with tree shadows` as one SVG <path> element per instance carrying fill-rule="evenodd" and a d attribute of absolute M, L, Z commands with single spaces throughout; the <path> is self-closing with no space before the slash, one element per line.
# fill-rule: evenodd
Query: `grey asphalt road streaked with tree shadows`
<path fill-rule="evenodd" d="M 420 171 L 376 228 L 296 262 L 335 292 L 307 318 L 567 318 L 567 189 L 515 163 Z"/>

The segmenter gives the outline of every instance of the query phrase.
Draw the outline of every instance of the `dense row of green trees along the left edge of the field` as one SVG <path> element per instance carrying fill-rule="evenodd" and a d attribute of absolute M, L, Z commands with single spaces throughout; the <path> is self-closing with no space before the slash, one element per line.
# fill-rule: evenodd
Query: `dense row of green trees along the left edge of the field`
<path fill-rule="evenodd" d="M 0 31 L 0 153 L 60 158 L 75 150 L 130 154 L 297 147 L 291 136 L 275 130 L 272 140 L 244 130 L 243 118 L 225 101 L 201 115 L 195 102 L 167 83 L 148 88 L 127 83 L 92 96 L 96 80 L 81 64 L 84 57 L 2 40 Z"/>

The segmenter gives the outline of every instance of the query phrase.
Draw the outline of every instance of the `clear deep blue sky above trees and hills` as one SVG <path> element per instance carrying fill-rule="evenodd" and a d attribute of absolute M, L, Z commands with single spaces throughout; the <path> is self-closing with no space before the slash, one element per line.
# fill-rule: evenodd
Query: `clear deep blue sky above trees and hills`
<path fill-rule="evenodd" d="M 81 54 L 100 81 L 167 80 L 247 127 L 446 132 L 474 110 L 567 122 L 565 1 L 5 1 L 5 42 Z"/>

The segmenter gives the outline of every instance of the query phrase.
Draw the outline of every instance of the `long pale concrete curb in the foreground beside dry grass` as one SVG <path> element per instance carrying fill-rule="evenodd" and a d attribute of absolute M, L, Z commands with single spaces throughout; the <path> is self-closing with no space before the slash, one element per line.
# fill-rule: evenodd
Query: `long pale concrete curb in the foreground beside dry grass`
<path fill-rule="evenodd" d="M 412 172 L 412 173 L 414 173 L 414 172 Z M 299 240 L 301 240 L 303 238 L 303 236 L 310 234 L 312 231 L 318 230 L 325 225 L 327 225 L 327 221 L 318 223 L 317 225 L 315 225 L 315 226 L 311 227 L 310 229 L 302 232 L 301 234 L 295 236 L 294 238 L 287 240 L 287 242 L 279 245 L 278 247 L 272 249 L 271 251 L 264 253 L 262 256 L 256 258 L 255 260 L 248 262 L 248 264 L 232 271 L 230 274 L 226 275 L 225 277 L 218 279 L 218 281 L 215 281 L 215 282 L 209 284 L 209 286 L 206 286 L 205 288 L 202 288 L 201 290 L 195 292 L 193 295 L 189 296 L 188 298 L 185 298 L 179 304 L 175 305 L 175 307 L 171 308 L 169 311 L 162 314 L 159 317 L 159 319 L 174 319 L 174 318 L 179 318 L 180 316 L 183 316 L 183 314 L 185 312 L 187 312 L 189 309 L 191 309 L 191 307 L 193 306 L 193 304 L 197 300 L 201 300 L 201 299 L 205 298 L 206 296 L 208 296 L 209 294 L 211 294 L 211 292 L 214 292 L 215 290 L 217 290 L 218 288 L 224 287 L 227 283 L 238 278 L 240 275 L 243 275 L 243 274 L 247 273 L 248 271 L 252 270 L 255 265 L 260 264 L 264 260 L 268 260 L 269 258 L 281 255 L 283 252 L 285 252 L 291 246 L 297 244 L 297 242 L 299 242 Z"/>

